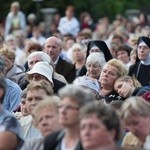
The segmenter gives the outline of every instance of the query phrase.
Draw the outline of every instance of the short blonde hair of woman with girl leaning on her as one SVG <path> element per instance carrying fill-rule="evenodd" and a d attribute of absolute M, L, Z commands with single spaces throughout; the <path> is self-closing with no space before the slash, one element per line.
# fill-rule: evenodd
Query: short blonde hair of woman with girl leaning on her
<path fill-rule="evenodd" d="M 113 58 L 109 60 L 106 64 L 118 69 L 118 77 L 127 75 L 128 73 L 126 66 L 120 60 Z"/>

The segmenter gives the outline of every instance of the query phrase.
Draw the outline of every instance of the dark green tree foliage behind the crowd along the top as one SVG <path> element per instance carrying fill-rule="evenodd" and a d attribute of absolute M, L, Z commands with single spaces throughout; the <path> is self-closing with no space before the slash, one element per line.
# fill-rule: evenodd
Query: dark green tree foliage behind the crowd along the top
<path fill-rule="evenodd" d="M 10 10 L 12 0 L 0 0 L 0 21 L 4 21 Z M 139 9 L 147 14 L 150 14 L 150 0 L 43 0 L 35 2 L 34 0 L 18 0 L 21 4 L 21 10 L 26 14 L 30 13 L 42 14 L 41 8 L 57 8 L 61 15 L 67 5 L 72 4 L 76 7 L 76 16 L 79 17 L 83 11 L 91 13 L 95 21 L 103 16 L 108 16 L 111 20 L 116 14 L 125 15 L 128 9 Z"/>

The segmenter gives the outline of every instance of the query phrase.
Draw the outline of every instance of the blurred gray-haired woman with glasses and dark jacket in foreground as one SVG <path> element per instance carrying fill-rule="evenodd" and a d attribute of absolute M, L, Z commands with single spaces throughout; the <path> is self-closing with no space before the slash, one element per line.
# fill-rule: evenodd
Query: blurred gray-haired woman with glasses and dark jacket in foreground
<path fill-rule="evenodd" d="M 64 130 L 58 135 L 49 135 L 46 139 L 45 150 L 72 149 L 82 150 L 79 131 L 79 111 L 85 104 L 94 101 L 89 91 L 76 85 L 67 85 L 59 91 L 59 123 Z M 55 140 L 51 141 L 53 136 Z M 59 140 L 58 140 L 59 139 Z M 51 141 L 51 142 L 50 142 Z"/>

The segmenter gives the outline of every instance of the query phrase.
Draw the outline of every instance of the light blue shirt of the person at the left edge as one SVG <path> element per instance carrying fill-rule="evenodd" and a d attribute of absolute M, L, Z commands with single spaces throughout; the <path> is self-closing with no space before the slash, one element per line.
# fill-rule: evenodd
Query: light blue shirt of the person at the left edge
<path fill-rule="evenodd" d="M 9 79 L 6 81 L 6 94 L 3 101 L 3 108 L 9 112 L 13 112 L 21 101 L 22 90 L 18 84 Z"/>

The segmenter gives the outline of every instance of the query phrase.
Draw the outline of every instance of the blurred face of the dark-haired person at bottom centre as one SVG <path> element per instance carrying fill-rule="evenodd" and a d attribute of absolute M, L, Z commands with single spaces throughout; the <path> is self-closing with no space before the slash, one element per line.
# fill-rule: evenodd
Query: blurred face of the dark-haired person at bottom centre
<path fill-rule="evenodd" d="M 85 149 L 98 149 L 114 143 L 114 132 L 109 131 L 96 114 L 81 120 L 80 135 Z"/>

